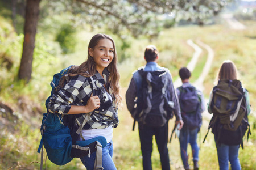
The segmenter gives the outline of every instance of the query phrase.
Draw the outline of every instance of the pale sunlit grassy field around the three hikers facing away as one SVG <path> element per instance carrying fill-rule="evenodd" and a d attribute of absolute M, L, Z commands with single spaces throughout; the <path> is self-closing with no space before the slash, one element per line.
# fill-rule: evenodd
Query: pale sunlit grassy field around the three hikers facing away
<path fill-rule="evenodd" d="M 177 77 L 178 68 L 186 66 L 189 57 L 192 57 L 192 49 L 185 44 L 187 39 L 201 40 L 205 44 L 208 44 L 214 50 L 214 60 L 210 73 L 204 81 L 204 94 L 208 97 L 210 90 L 214 86 L 214 80 L 222 61 L 225 59 L 231 59 L 237 66 L 240 72 L 240 79 L 244 86 L 249 90 L 250 103 L 253 111 L 250 114 L 251 128 L 255 131 L 255 95 L 254 88 L 256 78 L 256 40 L 254 38 L 255 23 L 244 23 L 247 26 L 245 31 L 234 31 L 226 27 L 226 25 L 212 25 L 209 27 L 178 27 L 166 30 L 162 35 L 148 44 L 154 44 L 160 50 L 159 65 L 168 67 L 174 76 Z M 146 46 L 145 44 L 144 46 Z M 141 55 L 138 56 L 137 61 L 143 63 L 143 49 L 141 49 Z M 192 73 L 192 81 L 199 77 L 201 70 L 203 69 L 207 52 L 204 50 L 201 55 L 195 70 Z M 136 59 L 137 56 L 134 56 Z M 121 64 L 121 82 L 123 85 L 122 93 L 125 96 L 126 87 L 129 84 L 131 78 L 131 70 L 135 70 L 135 66 L 138 62 L 122 63 Z M 128 75 L 127 75 L 128 74 Z M 125 105 L 125 101 L 123 101 Z M 208 113 L 205 113 L 208 114 Z M 135 131 L 131 131 L 133 120 L 131 119 L 126 107 L 123 107 L 119 111 L 121 117 L 121 123 L 119 127 L 114 131 L 114 146 L 115 156 L 114 160 L 118 169 L 142 169 L 142 155 L 140 151 L 138 128 Z M 204 117 L 203 126 L 199 133 L 199 146 L 200 146 L 200 169 L 218 169 L 217 151 L 214 144 L 213 134 L 209 133 L 207 141 L 203 142 L 203 138 L 207 133 L 207 127 L 209 124 L 209 118 Z M 169 123 L 170 133 L 174 125 L 174 120 Z M 125 135 L 122 135 L 125 134 Z M 121 142 L 121 141 L 122 142 Z M 255 154 L 255 134 L 250 137 L 249 142 L 244 142 L 245 148 L 240 149 L 240 162 L 242 169 L 255 169 L 256 168 L 256 154 Z M 168 144 L 170 161 L 172 169 L 183 169 L 180 154 L 179 154 L 179 141 L 172 139 L 172 143 Z M 191 147 L 188 147 L 191 150 Z M 192 164 L 192 154 L 189 151 L 189 161 Z M 154 151 L 152 153 L 152 166 L 154 169 L 160 169 L 159 154 L 154 143 Z"/>

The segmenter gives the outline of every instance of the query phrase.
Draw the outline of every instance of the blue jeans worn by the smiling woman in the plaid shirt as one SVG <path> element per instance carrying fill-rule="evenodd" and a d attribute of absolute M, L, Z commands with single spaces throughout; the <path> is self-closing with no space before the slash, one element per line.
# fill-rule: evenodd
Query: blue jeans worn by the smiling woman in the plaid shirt
<path fill-rule="evenodd" d="M 115 170 L 115 164 L 112 159 L 113 156 L 113 143 L 112 141 L 107 143 L 107 145 L 102 148 L 102 167 L 104 170 Z M 93 170 L 94 160 L 96 158 L 96 152 L 88 156 L 80 158 L 82 163 L 85 165 L 87 170 Z"/>

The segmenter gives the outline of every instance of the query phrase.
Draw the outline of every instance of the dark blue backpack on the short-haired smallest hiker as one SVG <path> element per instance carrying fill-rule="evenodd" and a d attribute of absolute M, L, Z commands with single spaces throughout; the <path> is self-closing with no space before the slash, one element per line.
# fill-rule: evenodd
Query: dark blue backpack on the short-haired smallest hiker
<path fill-rule="evenodd" d="M 179 87 L 179 103 L 184 127 L 188 129 L 200 128 L 202 125 L 201 96 L 193 86 Z"/>

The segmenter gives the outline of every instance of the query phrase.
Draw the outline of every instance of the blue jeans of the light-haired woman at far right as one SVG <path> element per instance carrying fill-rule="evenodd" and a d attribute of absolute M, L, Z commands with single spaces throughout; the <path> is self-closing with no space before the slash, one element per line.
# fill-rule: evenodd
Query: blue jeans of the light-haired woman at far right
<path fill-rule="evenodd" d="M 216 145 L 216 148 L 220 170 L 228 170 L 229 162 L 232 170 L 241 169 L 240 161 L 238 159 L 239 145 L 225 145 L 221 143 L 220 146 Z"/>

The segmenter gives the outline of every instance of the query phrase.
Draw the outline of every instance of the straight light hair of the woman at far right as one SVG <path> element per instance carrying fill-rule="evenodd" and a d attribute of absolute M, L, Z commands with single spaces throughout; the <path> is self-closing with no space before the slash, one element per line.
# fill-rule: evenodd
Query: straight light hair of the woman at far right
<path fill-rule="evenodd" d="M 218 71 L 217 80 L 228 79 L 236 80 L 238 79 L 238 71 L 236 65 L 233 61 L 225 60 L 222 62 L 220 70 Z"/>

